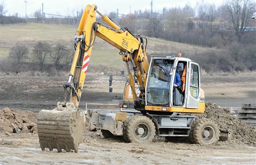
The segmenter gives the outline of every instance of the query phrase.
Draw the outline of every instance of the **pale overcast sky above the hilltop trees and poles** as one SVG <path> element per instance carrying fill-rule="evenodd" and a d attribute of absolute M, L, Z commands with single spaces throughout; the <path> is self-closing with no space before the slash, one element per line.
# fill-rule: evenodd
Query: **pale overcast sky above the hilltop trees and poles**
<path fill-rule="evenodd" d="M 6 16 L 13 16 L 18 13 L 18 16 L 25 16 L 25 1 L 27 1 L 27 16 L 31 16 L 34 11 L 42 9 L 48 14 L 71 15 L 76 11 L 81 11 L 87 4 L 96 4 L 98 11 L 102 14 L 108 14 L 111 11 L 119 10 L 120 14 L 134 13 L 136 10 L 145 9 L 150 10 L 151 0 L 0 0 L 5 4 L 8 12 Z M 202 0 L 153 0 L 153 11 L 159 12 L 164 7 L 183 7 L 186 4 L 195 6 L 197 2 Z M 205 3 L 214 3 L 215 5 L 222 5 L 224 0 L 203 0 Z M 75 12 L 73 12 L 75 11 Z"/>

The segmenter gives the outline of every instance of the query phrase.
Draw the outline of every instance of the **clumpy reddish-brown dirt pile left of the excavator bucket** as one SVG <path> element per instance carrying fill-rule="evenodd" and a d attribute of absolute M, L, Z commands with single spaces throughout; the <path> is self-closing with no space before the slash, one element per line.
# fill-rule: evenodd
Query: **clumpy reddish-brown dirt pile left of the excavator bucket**
<path fill-rule="evenodd" d="M 37 114 L 32 111 L 0 109 L 0 132 L 36 133 Z"/>

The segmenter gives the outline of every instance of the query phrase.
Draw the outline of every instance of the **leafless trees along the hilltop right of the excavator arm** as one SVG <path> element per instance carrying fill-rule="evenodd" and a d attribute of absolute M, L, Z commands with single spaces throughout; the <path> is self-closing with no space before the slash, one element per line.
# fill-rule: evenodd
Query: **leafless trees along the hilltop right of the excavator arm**
<path fill-rule="evenodd" d="M 190 34 L 200 32 L 204 36 L 215 37 L 216 32 L 233 31 L 236 41 L 240 43 L 245 27 L 256 27 L 256 23 L 251 22 L 251 16 L 255 11 L 254 0 L 225 0 L 224 4 L 218 7 L 201 1 L 194 8 L 190 5 L 183 8 L 164 8 L 159 13 L 153 13 L 152 17 L 148 10 L 135 11 L 134 14 L 120 16 L 118 24 L 121 27 L 130 25 L 130 31 L 137 33 L 139 30 L 140 33 L 150 37 L 162 37 L 168 33 L 179 36 L 179 33 L 184 32 Z M 114 20 L 117 19 L 115 11 L 112 11 L 109 16 Z M 165 39 L 187 43 L 173 38 L 176 37 Z"/>

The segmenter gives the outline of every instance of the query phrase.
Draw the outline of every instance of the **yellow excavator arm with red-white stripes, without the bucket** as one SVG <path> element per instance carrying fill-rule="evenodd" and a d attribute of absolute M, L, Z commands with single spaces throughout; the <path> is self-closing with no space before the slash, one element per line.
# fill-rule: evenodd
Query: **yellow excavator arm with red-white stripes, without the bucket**
<path fill-rule="evenodd" d="M 79 105 L 82 88 L 85 81 L 86 71 L 89 64 L 92 47 L 95 37 L 98 36 L 115 48 L 119 49 L 119 54 L 123 56 L 123 61 L 131 62 L 133 71 L 140 86 L 145 88 L 146 74 L 148 73 L 149 63 L 145 52 L 143 39 L 136 37 L 128 30 L 118 27 L 107 15 L 102 15 L 96 10 L 96 5 L 87 5 L 82 15 L 80 25 L 75 36 L 75 57 L 69 73 L 69 80 L 73 78 L 72 102 L 75 106 Z M 104 25 L 96 21 L 96 13 L 101 19 L 107 22 Z M 133 75 L 128 69 L 130 85 L 134 87 Z M 70 82 L 68 82 L 70 83 Z M 67 84 L 67 86 L 70 86 Z M 144 92 L 142 88 L 141 92 Z M 133 99 L 137 98 L 135 90 L 132 90 Z M 70 100 L 71 101 L 71 100 Z M 69 101 L 69 102 L 70 102 Z"/>

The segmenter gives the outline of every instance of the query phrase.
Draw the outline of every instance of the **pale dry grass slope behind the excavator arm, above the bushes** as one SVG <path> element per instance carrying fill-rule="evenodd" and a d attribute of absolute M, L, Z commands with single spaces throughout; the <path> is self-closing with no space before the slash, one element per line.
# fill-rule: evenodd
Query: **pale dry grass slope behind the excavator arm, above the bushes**
<path fill-rule="evenodd" d="M 15 24 L 0 26 L 0 59 L 8 56 L 10 48 L 17 42 L 26 43 L 29 49 L 37 41 L 46 41 L 50 44 L 67 42 L 73 45 L 76 26 L 48 25 L 48 24 Z M 176 55 L 181 52 L 184 56 L 190 57 L 202 51 L 214 50 L 194 45 L 175 43 L 158 38 L 148 38 L 147 53 L 155 55 L 159 53 Z M 119 50 L 99 37 L 96 38 L 92 50 L 90 64 L 112 65 L 119 67 L 123 64 L 118 54 Z"/>

